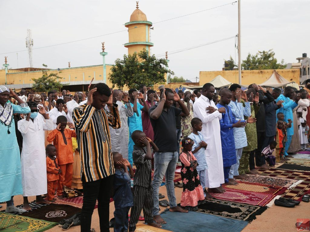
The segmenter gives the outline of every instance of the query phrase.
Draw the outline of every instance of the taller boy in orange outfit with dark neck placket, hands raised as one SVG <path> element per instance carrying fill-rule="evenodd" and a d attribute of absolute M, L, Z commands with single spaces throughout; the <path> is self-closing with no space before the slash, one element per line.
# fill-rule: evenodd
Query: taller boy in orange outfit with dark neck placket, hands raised
<path fill-rule="evenodd" d="M 73 174 L 73 151 L 72 151 L 72 137 L 76 138 L 73 123 L 68 122 L 67 118 L 63 115 L 58 116 L 56 122 L 56 129 L 53 130 L 48 136 L 47 140 L 53 142 L 56 147 L 57 159 L 61 173 L 59 175 L 57 196 L 59 199 L 63 198 L 63 187 L 71 187 L 72 174 Z"/>

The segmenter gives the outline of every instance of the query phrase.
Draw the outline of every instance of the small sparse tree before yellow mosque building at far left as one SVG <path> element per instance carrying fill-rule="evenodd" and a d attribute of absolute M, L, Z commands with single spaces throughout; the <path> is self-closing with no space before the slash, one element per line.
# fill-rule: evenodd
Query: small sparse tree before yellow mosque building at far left
<path fill-rule="evenodd" d="M 47 67 L 45 64 L 42 65 L 43 67 Z M 48 75 L 46 70 L 42 70 L 42 77 L 32 79 L 34 81 L 32 87 L 34 91 L 37 92 L 48 92 L 53 89 L 60 89 L 63 87 L 63 84 L 60 83 L 59 79 L 62 79 L 62 77 L 58 76 L 58 73 L 50 73 Z"/>

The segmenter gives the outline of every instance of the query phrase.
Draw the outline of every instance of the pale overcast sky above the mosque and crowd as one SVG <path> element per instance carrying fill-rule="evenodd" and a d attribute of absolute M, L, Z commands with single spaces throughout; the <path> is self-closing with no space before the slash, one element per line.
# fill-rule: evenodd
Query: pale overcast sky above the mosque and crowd
<path fill-rule="evenodd" d="M 139 9 L 153 22 L 152 54 L 163 54 L 195 45 L 235 36 L 238 33 L 238 5 L 222 6 L 178 19 L 156 23 L 181 15 L 233 2 L 232 0 L 140 0 Z M 273 49 L 278 61 L 296 62 L 302 53 L 310 55 L 310 1 L 242 0 L 241 1 L 241 57 L 258 50 Z M 65 43 L 111 32 L 126 30 L 135 1 L 0 1 L 2 19 L 0 63 L 8 56 L 11 68 L 17 68 L 15 51 L 26 49 L 27 29 L 33 38 L 33 67 L 49 68 L 102 64 L 101 42 L 105 41 L 106 63 L 127 54 L 123 44 L 128 32 L 68 43 L 48 48 L 42 46 Z M 235 39 L 221 41 L 192 50 L 169 55 L 169 68 L 177 76 L 194 81 L 199 71 L 222 70 L 224 59 L 237 58 Z M 18 67 L 28 67 L 28 52 L 18 52 Z"/>

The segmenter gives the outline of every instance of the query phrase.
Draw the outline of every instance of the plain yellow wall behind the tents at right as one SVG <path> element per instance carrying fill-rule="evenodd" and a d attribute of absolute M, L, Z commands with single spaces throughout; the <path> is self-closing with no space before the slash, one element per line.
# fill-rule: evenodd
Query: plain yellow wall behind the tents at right
<path fill-rule="evenodd" d="M 299 69 L 277 69 L 276 70 L 287 81 L 294 81 L 299 84 Z M 266 81 L 271 75 L 273 70 L 242 70 L 241 71 L 241 84 L 260 84 Z M 216 76 L 221 75 L 231 83 L 238 83 L 238 70 L 236 71 L 200 71 L 199 84 L 203 85 L 214 79 Z"/>

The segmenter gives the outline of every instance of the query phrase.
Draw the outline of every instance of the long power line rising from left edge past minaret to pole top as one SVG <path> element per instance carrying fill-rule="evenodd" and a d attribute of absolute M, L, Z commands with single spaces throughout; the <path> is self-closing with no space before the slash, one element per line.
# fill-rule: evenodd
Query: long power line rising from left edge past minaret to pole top
<path fill-rule="evenodd" d="M 171 18 L 171 19 L 165 19 L 165 20 L 162 20 L 162 21 L 159 21 L 159 22 L 155 22 L 155 23 L 153 23 L 153 24 L 158 24 L 158 23 L 166 22 L 166 21 L 173 20 L 173 19 L 179 19 L 179 18 L 188 16 L 188 15 L 193 15 L 193 14 L 201 13 L 201 12 L 204 12 L 204 11 L 209 11 L 209 10 L 216 9 L 216 8 L 219 8 L 219 7 L 222 7 L 222 6 L 234 5 L 234 3 L 236 3 L 236 2 L 237 2 L 237 1 L 235 1 L 235 2 L 230 2 L 230 3 L 224 4 L 224 5 L 220 5 L 220 6 L 215 6 L 215 7 L 212 7 L 212 8 L 208 8 L 208 9 L 205 9 L 205 10 L 202 10 L 202 11 L 193 12 L 193 13 L 190 13 L 190 14 L 187 14 L 187 15 L 181 15 L 181 16 L 174 17 L 174 18 Z M 140 27 L 145 27 L 145 26 L 140 26 Z M 139 27 L 136 27 L 136 28 L 139 28 Z M 64 43 L 60 43 L 60 44 L 54 44 L 54 45 L 48 45 L 48 46 L 33 48 L 33 50 L 34 50 L 34 49 L 41 49 L 41 48 L 48 48 L 48 47 L 53 47 L 53 46 L 58 46 L 58 45 L 64 45 L 64 44 L 69 44 L 69 43 L 74 43 L 74 42 L 79 42 L 79 41 L 84 41 L 84 40 L 89 40 L 89 39 L 94 39 L 94 38 L 98 38 L 98 37 L 102 37 L 102 36 L 107 36 L 107 35 L 112 35 L 112 34 L 124 32 L 124 31 L 128 31 L 128 30 L 132 30 L 132 29 L 136 29 L 136 28 L 125 29 L 125 30 L 121 30 L 121 31 L 116 31 L 116 32 L 107 33 L 107 34 L 100 35 L 100 36 L 94 36 L 94 37 L 84 38 L 84 39 L 80 39 L 80 40 L 74 40 L 74 41 L 64 42 Z M 24 52 L 24 51 L 28 51 L 28 50 L 26 49 L 26 50 L 14 51 L 14 52 L 0 53 L 0 55 L 2 55 L 2 54 L 16 53 L 16 52 Z"/>

